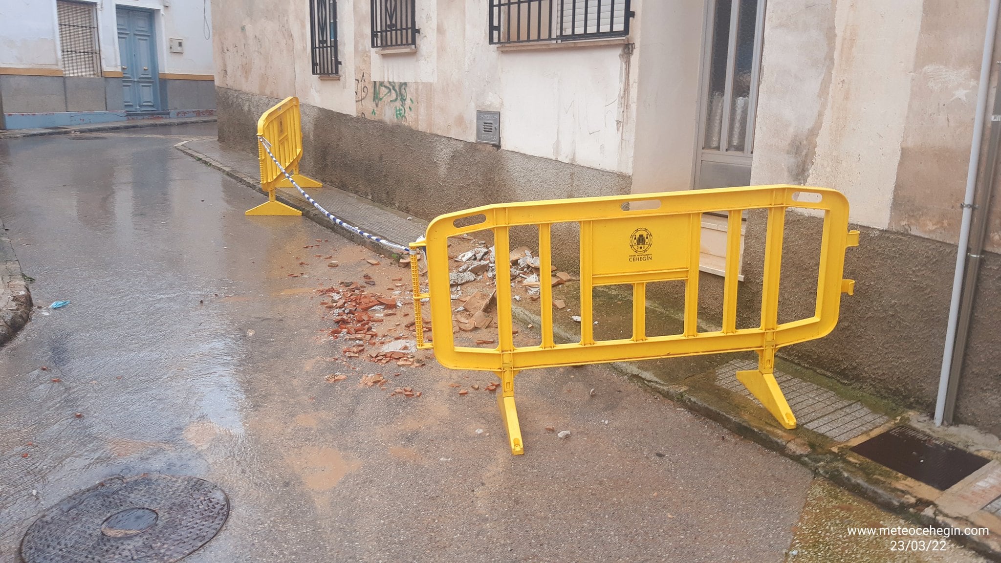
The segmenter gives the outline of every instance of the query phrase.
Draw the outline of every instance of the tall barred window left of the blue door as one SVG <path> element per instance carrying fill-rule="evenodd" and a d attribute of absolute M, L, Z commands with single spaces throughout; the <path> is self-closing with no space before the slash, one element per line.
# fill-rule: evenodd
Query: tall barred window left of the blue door
<path fill-rule="evenodd" d="M 57 0 L 59 49 L 64 76 L 100 76 L 97 18 L 93 4 Z"/>

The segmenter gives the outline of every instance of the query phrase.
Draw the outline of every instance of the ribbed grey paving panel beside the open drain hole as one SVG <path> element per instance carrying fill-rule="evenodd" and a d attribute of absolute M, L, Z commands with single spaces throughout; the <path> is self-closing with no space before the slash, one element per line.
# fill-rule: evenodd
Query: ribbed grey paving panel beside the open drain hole
<path fill-rule="evenodd" d="M 756 369 L 758 364 L 749 360 L 727 362 L 716 369 L 716 385 L 761 405 L 735 377 L 738 371 Z M 779 383 L 789 408 L 796 415 L 796 422 L 835 442 L 847 442 L 890 422 L 886 416 L 870 411 L 858 401 L 842 399 L 829 389 L 796 379 L 779 370 L 775 371 L 775 381 Z"/>

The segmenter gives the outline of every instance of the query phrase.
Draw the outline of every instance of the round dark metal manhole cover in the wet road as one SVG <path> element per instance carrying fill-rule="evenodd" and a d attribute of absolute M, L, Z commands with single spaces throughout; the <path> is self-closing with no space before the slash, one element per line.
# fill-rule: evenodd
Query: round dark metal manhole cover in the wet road
<path fill-rule="evenodd" d="M 170 563 L 222 527 L 229 500 L 194 477 L 115 477 L 46 510 L 21 540 L 26 563 Z"/>

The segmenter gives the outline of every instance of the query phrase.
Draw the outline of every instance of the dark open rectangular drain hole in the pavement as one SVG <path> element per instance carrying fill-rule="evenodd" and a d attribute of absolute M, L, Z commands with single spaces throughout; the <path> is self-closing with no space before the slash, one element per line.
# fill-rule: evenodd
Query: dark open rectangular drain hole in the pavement
<path fill-rule="evenodd" d="M 906 426 L 874 436 L 852 451 L 940 491 L 990 461 Z"/>

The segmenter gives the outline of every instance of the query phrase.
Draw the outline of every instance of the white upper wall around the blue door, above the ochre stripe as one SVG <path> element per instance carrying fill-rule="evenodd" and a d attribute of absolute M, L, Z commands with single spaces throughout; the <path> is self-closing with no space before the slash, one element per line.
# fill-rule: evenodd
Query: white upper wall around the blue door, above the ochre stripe
<path fill-rule="evenodd" d="M 104 70 L 120 70 L 115 0 L 97 0 L 98 42 Z M 118 5 L 154 12 L 160 72 L 214 73 L 207 0 L 122 0 Z M 203 12 L 204 9 L 204 12 Z M 205 23 L 207 18 L 207 27 Z M 183 53 L 168 52 L 168 39 L 184 40 Z M 0 1 L 0 67 L 59 68 L 55 0 Z"/>

